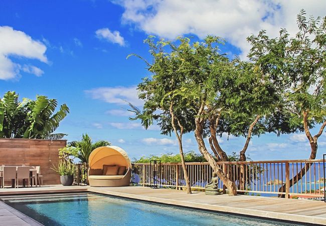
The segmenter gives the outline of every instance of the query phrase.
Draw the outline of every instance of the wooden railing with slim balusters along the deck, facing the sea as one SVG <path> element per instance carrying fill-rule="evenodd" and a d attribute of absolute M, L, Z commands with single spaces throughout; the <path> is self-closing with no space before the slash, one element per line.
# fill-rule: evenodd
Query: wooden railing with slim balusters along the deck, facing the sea
<path fill-rule="evenodd" d="M 229 179 L 235 181 L 238 192 L 283 194 L 285 197 L 323 195 L 325 176 L 322 160 L 218 162 L 218 165 Z M 186 163 L 186 166 L 191 187 L 204 189 L 212 177 L 210 165 Z M 133 164 L 131 182 L 149 186 L 157 180 L 162 187 L 186 187 L 181 163 L 161 164 L 160 172 L 154 178 L 150 169 L 149 163 Z M 293 177 L 294 180 L 291 180 Z M 223 189 L 220 179 L 219 188 Z"/>

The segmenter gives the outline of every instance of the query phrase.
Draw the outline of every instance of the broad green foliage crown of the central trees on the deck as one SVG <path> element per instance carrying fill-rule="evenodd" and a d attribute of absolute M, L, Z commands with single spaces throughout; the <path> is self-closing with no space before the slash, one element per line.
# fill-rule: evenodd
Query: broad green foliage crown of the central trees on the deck
<path fill-rule="evenodd" d="M 287 117 L 280 114 L 284 87 L 254 63 L 238 57 L 231 60 L 221 53 L 221 38 L 207 36 L 203 42 L 191 43 L 179 37 L 175 42 L 161 39 L 155 43 L 149 37 L 145 43 L 152 61 L 138 57 L 145 61 L 151 77 L 138 84 L 144 105 L 138 109 L 130 104 L 135 113 L 131 120 L 139 119 L 145 128 L 157 123 L 162 134 L 171 135 L 173 106 L 180 120 L 178 130 L 192 132 L 200 119 L 204 138 L 225 133 L 247 137 L 249 130 L 250 136 L 286 132 Z M 250 129 L 256 118 L 258 122 Z"/>

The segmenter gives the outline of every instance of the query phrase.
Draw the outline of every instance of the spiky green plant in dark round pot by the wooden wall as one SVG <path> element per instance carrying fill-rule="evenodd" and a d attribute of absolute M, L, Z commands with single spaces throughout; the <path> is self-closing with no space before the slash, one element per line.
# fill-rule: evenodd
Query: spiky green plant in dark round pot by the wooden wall
<path fill-rule="evenodd" d="M 60 160 L 52 168 L 60 174 L 60 181 L 63 186 L 71 186 L 74 182 L 75 165 L 69 161 Z"/>

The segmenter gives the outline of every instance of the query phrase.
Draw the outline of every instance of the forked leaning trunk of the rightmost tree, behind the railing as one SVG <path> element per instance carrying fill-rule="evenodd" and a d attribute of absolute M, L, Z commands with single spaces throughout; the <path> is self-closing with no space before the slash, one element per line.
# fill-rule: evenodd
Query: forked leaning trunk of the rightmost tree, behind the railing
<path fill-rule="evenodd" d="M 310 131 L 309 131 L 309 127 L 308 127 L 308 114 L 309 114 L 309 111 L 306 111 L 306 110 L 303 111 L 303 113 L 302 113 L 304 133 L 305 133 L 306 137 L 308 138 L 308 141 L 310 144 L 310 149 L 311 149 L 310 156 L 309 156 L 309 160 L 311 160 L 311 159 L 316 158 L 317 149 L 318 149 L 317 141 L 318 141 L 318 138 L 320 137 L 320 135 L 322 134 L 324 127 L 326 126 L 326 122 L 324 122 L 321 125 L 319 132 L 315 136 L 312 137 L 312 135 L 310 134 Z M 289 188 L 292 187 L 292 185 L 296 184 L 299 180 L 301 180 L 302 177 L 305 175 L 305 173 L 308 172 L 310 167 L 311 167 L 311 163 L 308 163 L 308 164 L 306 163 L 305 166 L 302 167 L 302 169 L 295 176 L 293 176 L 292 179 L 290 179 Z M 278 189 L 278 192 L 285 192 L 285 188 L 286 188 L 286 185 L 284 184 Z M 285 195 L 278 194 L 278 197 L 284 198 Z"/>

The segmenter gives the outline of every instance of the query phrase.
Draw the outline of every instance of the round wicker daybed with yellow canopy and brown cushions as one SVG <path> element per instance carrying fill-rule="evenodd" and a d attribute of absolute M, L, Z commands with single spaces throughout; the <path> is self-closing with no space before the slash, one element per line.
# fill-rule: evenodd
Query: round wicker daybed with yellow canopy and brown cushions
<path fill-rule="evenodd" d="M 127 153 L 117 146 L 96 148 L 88 158 L 90 186 L 129 186 L 131 162 Z"/>

